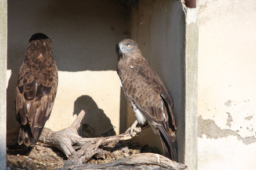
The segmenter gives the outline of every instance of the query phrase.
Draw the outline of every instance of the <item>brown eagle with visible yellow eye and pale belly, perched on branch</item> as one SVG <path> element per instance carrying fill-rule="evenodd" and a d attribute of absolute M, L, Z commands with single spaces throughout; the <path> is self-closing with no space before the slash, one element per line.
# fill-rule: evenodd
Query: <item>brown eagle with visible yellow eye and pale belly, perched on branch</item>
<path fill-rule="evenodd" d="M 121 40 L 116 52 L 121 87 L 137 121 L 139 124 L 147 121 L 154 133 L 160 135 L 165 156 L 178 162 L 173 104 L 164 83 L 150 68 L 134 40 Z"/>

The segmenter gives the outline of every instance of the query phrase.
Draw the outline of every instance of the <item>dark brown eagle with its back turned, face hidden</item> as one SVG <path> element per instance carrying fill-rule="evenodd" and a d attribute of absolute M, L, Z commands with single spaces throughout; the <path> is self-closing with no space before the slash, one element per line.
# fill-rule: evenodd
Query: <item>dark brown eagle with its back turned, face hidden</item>
<path fill-rule="evenodd" d="M 32 150 L 37 143 L 55 101 L 57 73 L 51 40 L 42 33 L 32 35 L 15 90 L 19 145 L 24 144 Z"/>

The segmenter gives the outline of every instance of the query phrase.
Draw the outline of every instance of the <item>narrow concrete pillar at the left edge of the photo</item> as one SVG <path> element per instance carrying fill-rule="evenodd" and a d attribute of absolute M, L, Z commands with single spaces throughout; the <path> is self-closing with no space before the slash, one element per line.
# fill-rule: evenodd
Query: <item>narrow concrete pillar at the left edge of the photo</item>
<path fill-rule="evenodd" d="M 7 0 L 0 0 L 0 169 L 6 168 Z"/>

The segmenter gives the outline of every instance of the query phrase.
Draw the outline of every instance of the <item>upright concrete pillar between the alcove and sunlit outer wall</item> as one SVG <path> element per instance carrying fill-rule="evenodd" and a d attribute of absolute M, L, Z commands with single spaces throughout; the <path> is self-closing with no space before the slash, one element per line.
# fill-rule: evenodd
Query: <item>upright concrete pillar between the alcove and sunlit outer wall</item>
<path fill-rule="evenodd" d="M 185 149 L 184 163 L 197 169 L 198 8 L 186 9 L 185 31 Z"/>

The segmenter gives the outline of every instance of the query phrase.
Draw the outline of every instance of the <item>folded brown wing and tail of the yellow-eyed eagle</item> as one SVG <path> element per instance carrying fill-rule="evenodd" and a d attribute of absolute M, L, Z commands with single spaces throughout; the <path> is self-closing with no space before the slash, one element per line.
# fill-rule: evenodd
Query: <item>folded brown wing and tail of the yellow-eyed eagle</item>
<path fill-rule="evenodd" d="M 118 70 L 122 89 L 129 102 L 158 128 L 165 156 L 178 161 L 172 99 L 160 77 L 144 60 L 132 62 L 125 70 Z"/>

